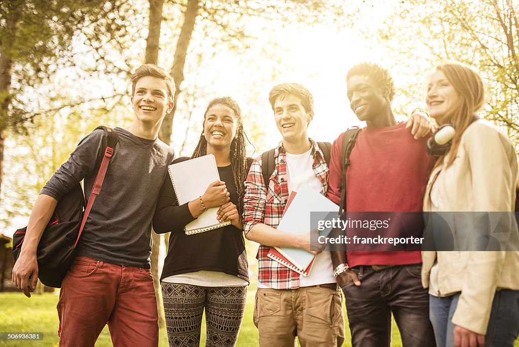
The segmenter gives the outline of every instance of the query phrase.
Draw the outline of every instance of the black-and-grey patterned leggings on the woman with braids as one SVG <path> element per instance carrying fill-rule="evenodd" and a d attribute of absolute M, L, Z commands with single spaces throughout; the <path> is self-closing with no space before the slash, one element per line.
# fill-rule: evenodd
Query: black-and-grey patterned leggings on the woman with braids
<path fill-rule="evenodd" d="M 200 344 L 202 313 L 206 309 L 206 346 L 234 346 L 238 339 L 247 286 L 201 287 L 162 282 L 162 301 L 170 346 Z"/>

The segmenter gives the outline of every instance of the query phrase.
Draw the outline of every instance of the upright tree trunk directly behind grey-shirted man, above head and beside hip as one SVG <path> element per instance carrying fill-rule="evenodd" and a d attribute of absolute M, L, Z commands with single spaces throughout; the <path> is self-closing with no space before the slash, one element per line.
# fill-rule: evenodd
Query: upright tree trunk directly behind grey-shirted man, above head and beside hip
<path fill-rule="evenodd" d="M 146 38 L 146 63 L 157 64 L 160 43 L 160 25 L 162 23 L 162 6 L 164 0 L 149 0 L 149 27 Z M 160 235 L 152 230 L 152 255 L 149 257 L 152 266 L 153 285 L 155 297 L 157 298 L 157 312 L 159 317 L 159 328 L 166 326 L 164 311 L 162 310 L 162 296 L 159 282 L 159 251 Z"/>

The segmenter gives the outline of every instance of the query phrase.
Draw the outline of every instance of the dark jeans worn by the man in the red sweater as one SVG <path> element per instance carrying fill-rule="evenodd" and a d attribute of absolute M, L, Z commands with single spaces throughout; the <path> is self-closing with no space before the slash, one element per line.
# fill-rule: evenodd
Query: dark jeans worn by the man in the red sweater
<path fill-rule="evenodd" d="M 354 266 L 361 286 L 343 287 L 353 347 L 389 347 L 391 313 L 397 322 L 402 345 L 433 347 L 429 321 L 429 295 L 420 282 L 421 264 L 398 265 L 374 271 Z"/>

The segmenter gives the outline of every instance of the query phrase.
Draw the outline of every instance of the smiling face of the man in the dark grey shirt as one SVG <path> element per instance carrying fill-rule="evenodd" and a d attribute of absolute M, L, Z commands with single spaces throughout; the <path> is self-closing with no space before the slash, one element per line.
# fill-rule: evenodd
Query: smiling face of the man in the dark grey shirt
<path fill-rule="evenodd" d="M 166 81 L 154 76 L 144 76 L 135 84 L 131 98 L 135 118 L 142 123 L 157 124 L 173 109 L 168 101 Z"/>

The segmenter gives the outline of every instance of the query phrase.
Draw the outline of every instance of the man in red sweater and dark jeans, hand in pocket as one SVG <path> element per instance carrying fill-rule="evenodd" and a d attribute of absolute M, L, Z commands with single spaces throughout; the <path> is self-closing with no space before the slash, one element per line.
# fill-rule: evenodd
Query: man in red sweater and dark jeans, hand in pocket
<path fill-rule="evenodd" d="M 414 139 L 406 124 L 394 118 L 393 79 L 379 65 L 362 63 L 349 70 L 347 87 L 351 109 L 366 122 L 350 155 L 347 211 L 420 212 L 432 162 L 426 155 L 426 138 Z M 336 204 L 341 197 L 344 136 L 335 140 L 331 151 L 326 196 Z M 390 223 L 383 236 L 420 237 L 422 227 Z M 435 345 L 429 298 L 420 283 L 419 250 L 334 251 L 332 259 L 345 295 L 353 346 L 389 346 L 391 313 L 404 346 Z"/>

